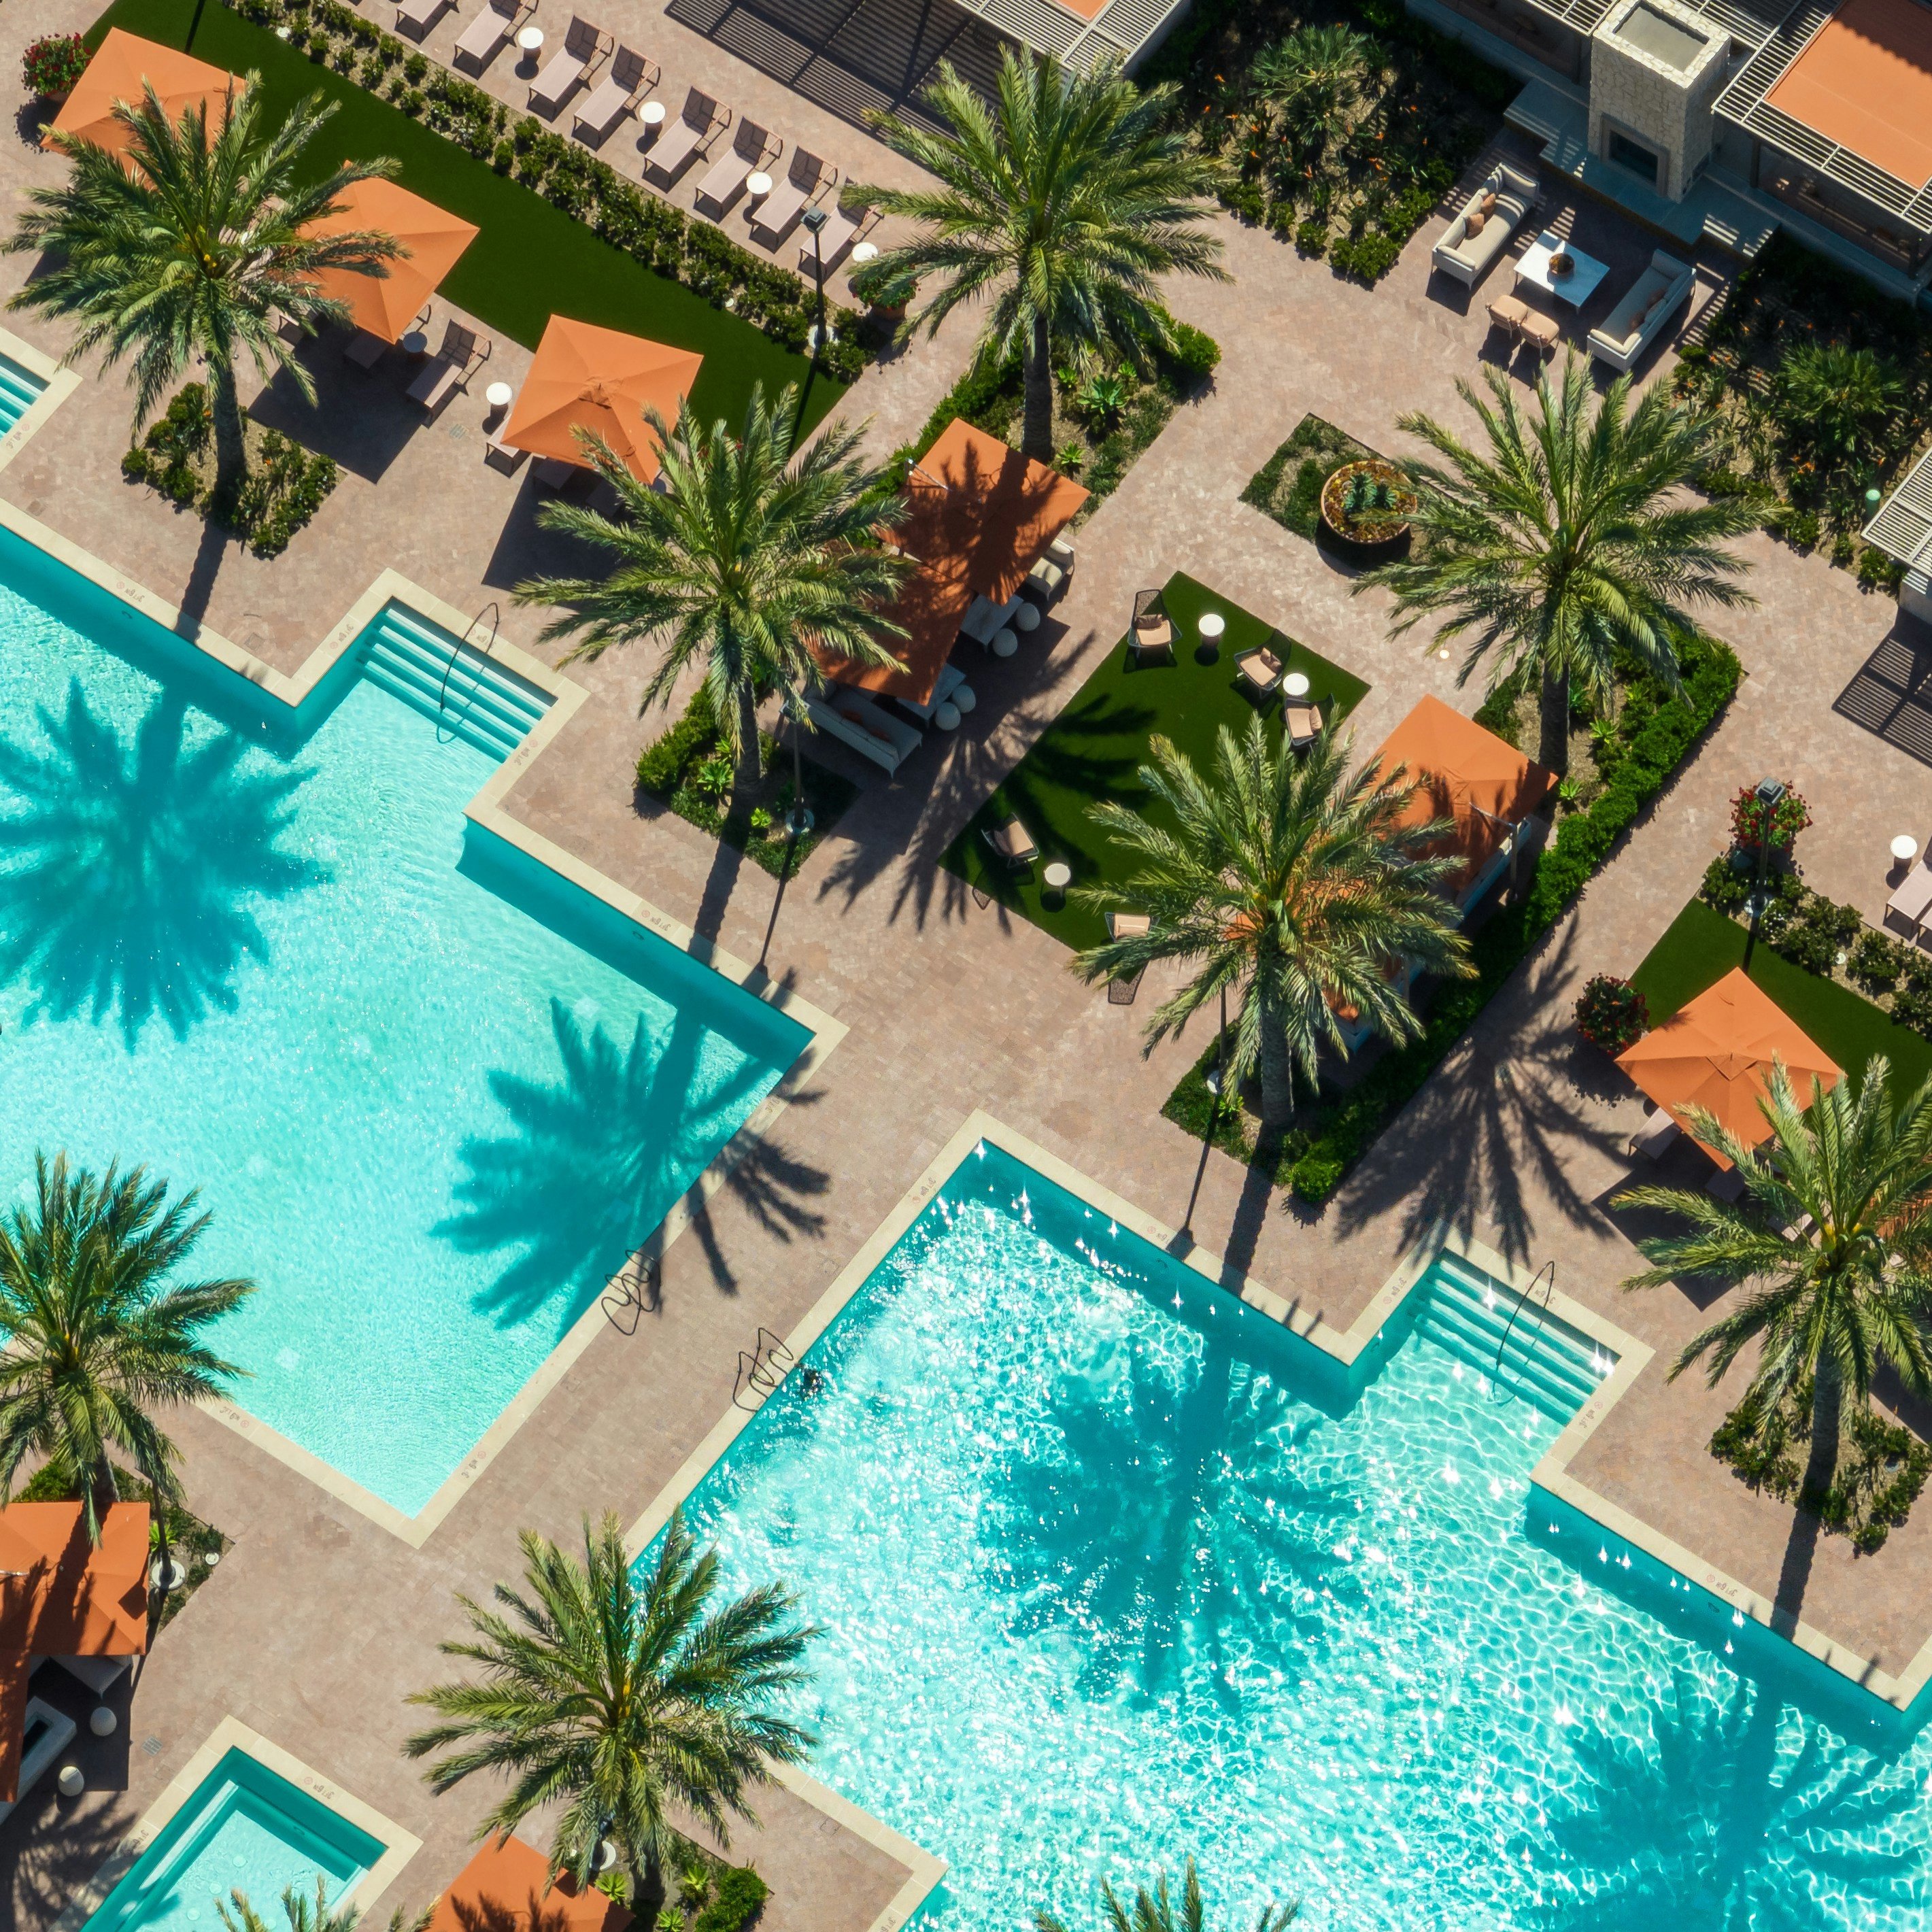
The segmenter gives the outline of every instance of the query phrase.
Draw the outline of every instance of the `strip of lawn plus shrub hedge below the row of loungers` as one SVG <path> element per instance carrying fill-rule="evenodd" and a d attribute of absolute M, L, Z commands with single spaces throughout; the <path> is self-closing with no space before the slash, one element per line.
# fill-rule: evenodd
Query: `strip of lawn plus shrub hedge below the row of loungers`
<path fill-rule="evenodd" d="M 259 0 L 257 12 L 280 12 L 280 4 Z M 336 112 L 305 156 L 311 174 L 327 174 L 344 156 L 388 155 L 400 162 L 404 187 L 475 222 L 479 234 L 444 276 L 442 296 L 526 348 L 537 344 L 551 315 L 558 313 L 697 350 L 705 365 L 692 388 L 692 408 L 732 423 L 742 419 L 753 383 L 763 383 L 767 394 L 796 383 L 806 427 L 844 394 L 862 354 L 848 340 L 835 344 L 819 363 L 796 354 L 817 313 L 815 294 L 798 276 L 757 263 L 703 222 L 686 222 L 668 203 L 620 182 L 582 145 L 547 133 L 541 124 L 512 122 L 498 100 L 442 68 L 425 68 L 421 116 L 404 112 L 340 71 L 340 62 L 348 60 L 359 75 L 373 56 L 377 71 L 394 71 L 398 91 L 406 93 L 413 50 L 381 35 L 373 21 L 338 0 L 323 0 L 323 6 L 327 14 L 307 17 L 348 21 L 350 29 L 317 29 L 319 60 L 309 58 L 311 43 L 294 27 L 282 41 L 220 0 L 201 6 L 195 0 L 116 0 L 89 41 L 99 41 L 108 27 L 124 27 L 185 48 L 193 31 L 197 58 L 234 73 L 261 73 L 274 114 L 286 114 L 321 89 L 336 102 Z M 363 41 L 367 52 L 354 52 Z M 400 54 L 392 70 L 381 66 L 384 41 Z M 450 133 L 439 133 L 433 122 L 448 126 Z M 491 160 L 458 145 L 458 137 L 469 147 L 483 145 L 485 128 Z M 752 270 L 757 270 L 755 286 L 748 280 Z M 732 298 L 738 298 L 738 313 L 724 307 Z M 753 327 L 748 313 L 765 317 L 765 327 Z M 840 336 L 850 334 L 850 317 L 835 315 L 835 323 Z"/>

